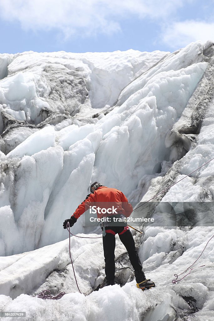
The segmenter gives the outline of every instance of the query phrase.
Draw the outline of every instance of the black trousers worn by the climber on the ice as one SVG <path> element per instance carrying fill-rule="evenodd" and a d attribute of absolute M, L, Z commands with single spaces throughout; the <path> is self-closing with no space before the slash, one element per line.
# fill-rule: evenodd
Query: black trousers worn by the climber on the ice
<path fill-rule="evenodd" d="M 112 230 L 115 233 L 121 233 L 124 230 L 123 226 L 112 226 L 106 227 L 107 230 Z M 130 230 L 125 231 L 123 234 L 119 235 L 121 242 L 124 244 L 130 262 L 134 269 L 134 274 L 136 282 L 140 283 L 144 281 L 145 274 L 142 271 L 142 264 L 138 256 L 137 250 L 135 248 L 134 239 Z M 115 279 L 115 235 L 112 233 L 106 233 L 103 236 L 103 250 L 105 257 L 105 273 L 107 281 Z"/>

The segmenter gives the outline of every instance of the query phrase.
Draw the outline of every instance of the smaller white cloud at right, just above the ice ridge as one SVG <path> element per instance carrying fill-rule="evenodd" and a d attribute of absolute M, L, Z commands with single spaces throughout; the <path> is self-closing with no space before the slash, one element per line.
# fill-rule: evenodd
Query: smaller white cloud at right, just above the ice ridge
<path fill-rule="evenodd" d="M 214 22 L 186 20 L 174 22 L 163 29 L 162 41 L 171 48 L 184 47 L 190 42 L 214 40 Z"/>

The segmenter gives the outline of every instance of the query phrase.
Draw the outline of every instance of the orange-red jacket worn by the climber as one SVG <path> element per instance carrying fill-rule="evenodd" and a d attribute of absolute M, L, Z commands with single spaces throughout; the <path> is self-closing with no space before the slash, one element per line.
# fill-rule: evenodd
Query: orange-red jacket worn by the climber
<path fill-rule="evenodd" d="M 78 219 L 80 215 L 90 208 L 90 206 L 94 205 L 96 205 L 97 208 L 100 207 L 102 209 L 112 208 L 112 206 L 114 206 L 118 214 L 123 214 L 126 217 L 130 216 L 133 211 L 132 205 L 128 203 L 127 198 L 121 191 L 116 188 L 100 186 L 94 191 L 94 193 L 91 193 L 86 197 L 86 199 L 77 207 L 72 216 Z M 99 214 L 97 212 L 97 216 L 99 218 L 108 215 L 115 215 L 115 213 Z"/>

